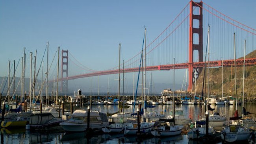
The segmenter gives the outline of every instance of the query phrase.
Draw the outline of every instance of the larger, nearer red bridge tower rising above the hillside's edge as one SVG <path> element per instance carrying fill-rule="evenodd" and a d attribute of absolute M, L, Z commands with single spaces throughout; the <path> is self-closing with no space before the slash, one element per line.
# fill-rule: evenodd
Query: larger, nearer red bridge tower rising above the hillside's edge
<path fill-rule="evenodd" d="M 199 5 L 199 6 L 198 6 Z M 200 7 L 201 6 L 201 7 Z M 203 14 L 202 14 L 202 1 L 190 1 L 190 15 L 189 15 L 189 83 L 188 90 L 192 89 L 193 82 L 195 81 L 194 74 L 202 71 L 202 68 L 193 67 L 194 63 L 194 50 L 198 51 L 199 62 L 203 61 Z M 196 13 L 198 12 L 199 13 Z"/>

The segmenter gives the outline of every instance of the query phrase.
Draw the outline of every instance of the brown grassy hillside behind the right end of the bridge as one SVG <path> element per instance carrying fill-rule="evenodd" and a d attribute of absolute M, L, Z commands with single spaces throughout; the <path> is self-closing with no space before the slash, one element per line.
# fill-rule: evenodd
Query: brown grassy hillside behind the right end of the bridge
<path fill-rule="evenodd" d="M 256 50 L 251 52 L 246 56 L 246 58 L 256 57 Z M 239 58 L 243 59 L 243 57 Z M 223 93 L 224 95 L 235 94 L 235 81 L 234 81 L 234 66 L 223 67 Z M 199 74 L 197 79 L 197 93 L 202 91 L 202 81 L 203 81 L 204 70 Z M 238 96 L 243 92 L 243 66 L 236 67 L 236 78 L 237 78 L 237 94 Z M 206 69 L 206 79 L 207 83 L 207 69 Z M 210 94 L 221 95 L 221 67 L 219 68 L 209 68 L 209 88 Z M 256 66 L 246 66 L 245 67 L 245 94 L 246 95 L 256 95 Z"/>

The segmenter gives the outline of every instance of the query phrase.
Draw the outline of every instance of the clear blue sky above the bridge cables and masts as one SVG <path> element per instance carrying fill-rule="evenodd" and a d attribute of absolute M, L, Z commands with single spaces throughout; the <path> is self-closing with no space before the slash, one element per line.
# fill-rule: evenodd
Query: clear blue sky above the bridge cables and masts
<path fill-rule="evenodd" d="M 106 70 L 141 49 L 144 28 L 152 41 L 189 0 L 0 0 L 0 76 L 7 61 L 26 52 L 42 56 L 46 42 L 50 55 L 58 46 L 68 49 L 83 65 Z M 235 20 L 256 28 L 255 0 L 204 0 Z M 28 61 L 28 54 L 27 54 Z M 20 75 L 19 75 L 20 76 Z M 180 76 L 180 81 L 183 74 Z M 166 80 L 160 80 L 167 82 Z M 155 82 L 157 80 L 155 79 Z"/>

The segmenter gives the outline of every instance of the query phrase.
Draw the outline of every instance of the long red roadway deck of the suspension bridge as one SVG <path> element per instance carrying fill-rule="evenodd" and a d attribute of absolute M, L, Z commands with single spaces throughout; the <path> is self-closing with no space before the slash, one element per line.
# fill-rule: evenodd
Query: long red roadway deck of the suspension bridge
<path fill-rule="evenodd" d="M 204 67 L 204 65 L 205 65 L 204 62 L 193 63 L 193 67 Z M 231 66 L 231 65 L 234 65 L 234 59 L 223 60 L 223 66 L 227 67 L 227 66 Z M 236 60 L 236 65 L 237 66 L 243 66 L 243 59 L 237 59 Z M 245 59 L 245 65 L 246 66 L 256 65 L 256 58 Z M 206 66 L 207 66 L 207 62 L 206 62 Z M 221 60 L 220 61 L 210 61 L 209 66 L 210 67 L 221 66 Z M 182 69 L 182 68 L 188 68 L 188 67 L 189 67 L 189 63 L 179 63 L 179 64 L 174 65 L 175 69 Z M 157 66 L 146 66 L 147 71 L 151 71 L 151 70 L 171 70 L 171 69 L 173 69 L 173 64 L 157 65 Z M 139 71 L 139 67 L 124 69 L 124 72 L 138 72 L 138 71 Z M 98 75 L 101 76 L 101 75 L 108 75 L 108 74 L 118 74 L 118 72 L 119 72 L 119 69 L 98 71 L 98 72 L 92 72 L 92 73 L 87 73 L 87 74 L 65 77 L 63 79 L 59 79 L 59 81 L 67 80 L 67 79 L 70 80 L 70 79 L 86 78 L 86 77 L 98 76 Z M 123 72 L 123 70 L 120 71 L 120 73 L 122 73 L 122 72 Z M 53 82 L 53 80 L 51 80 L 50 82 Z"/>

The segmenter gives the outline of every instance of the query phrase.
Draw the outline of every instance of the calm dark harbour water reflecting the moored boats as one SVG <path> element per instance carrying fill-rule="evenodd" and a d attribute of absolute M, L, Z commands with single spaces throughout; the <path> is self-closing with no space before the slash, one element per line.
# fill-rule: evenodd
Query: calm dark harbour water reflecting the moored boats
<path fill-rule="evenodd" d="M 157 105 L 155 108 L 148 108 L 147 111 L 168 113 L 171 109 L 171 105 Z M 211 106 L 211 108 L 215 107 L 214 112 L 218 112 L 221 115 L 225 115 L 229 118 L 233 116 L 235 105 L 216 105 Z M 251 113 L 256 113 L 256 105 L 245 105 L 247 111 Z M 196 120 L 200 117 L 200 107 L 199 105 L 176 105 L 176 108 L 182 108 L 184 110 L 184 115 L 189 118 Z M 135 107 L 135 110 L 137 106 Z M 238 106 L 239 115 L 241 114 L 241 106 Z M 109 112 L 113 113 L 118 111 L 117 105 L 93 105 L 92 110 L 101 111 L 103 113 Z M 128 109 L 125 109 L 127 112 L 133 111 L 133 106 L 130 106 Z M 211 114 L 211 112 L 210 112 Z M 197 143 L 189 141 L 187 135 L 179 135 L 176 137 L 168 137 L 168 138 L 140 138 L 137 137 L 124 137 L 123 134 L 115 134 L 115 135 L 95 135 L 93 137 L 88 138 L 84 132 L 82 133 L 35 133 L 26 131 L 25 129 L 1 129 L 1 144 L 38 144 L 38 143 L 47 143 L 47 144 L 96 144 L 96 143 L 104 143 L 104 144 L 122 144 L 122 143 L 147 143 L 147 144 L 184 144 L 184 143 Z"/>

